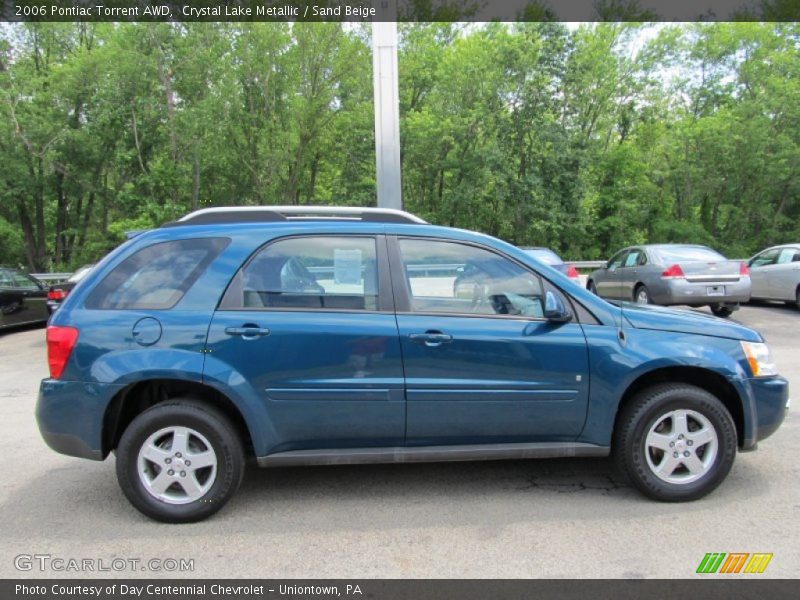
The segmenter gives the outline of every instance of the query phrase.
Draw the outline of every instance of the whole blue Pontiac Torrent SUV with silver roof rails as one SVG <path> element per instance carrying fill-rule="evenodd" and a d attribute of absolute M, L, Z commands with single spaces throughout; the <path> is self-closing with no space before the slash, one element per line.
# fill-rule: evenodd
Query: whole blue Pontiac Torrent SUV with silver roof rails
<path fill-rule="evenodd" d="M 788 405 L 751 329 L 610 304 L 510 244 L 368 208 L 205 209 L 138 235 L 47 348 L 47 444 L 114 451 L 130 502 L 168 522 L 219 510 L 248 459 L 612 454 L 647 496 L 692 500 Z"/>

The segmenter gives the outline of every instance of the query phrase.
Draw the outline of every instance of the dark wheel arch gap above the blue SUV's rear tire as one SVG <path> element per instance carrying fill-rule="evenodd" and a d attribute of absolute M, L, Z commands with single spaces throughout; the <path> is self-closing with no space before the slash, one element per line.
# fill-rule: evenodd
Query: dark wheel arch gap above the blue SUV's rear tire
<path fill-rule="evenodd" d="M 132 383 L 117 392 L 103 416 L 102 454 L 116 449 L 122 434 L 142 412 L 167 400 L 191 398 L 221 410 L 241 435 L 246 455 L 254 455 L 250 428 L 236 404 L 219 390 L 195 381 L 149 379 Z"/>

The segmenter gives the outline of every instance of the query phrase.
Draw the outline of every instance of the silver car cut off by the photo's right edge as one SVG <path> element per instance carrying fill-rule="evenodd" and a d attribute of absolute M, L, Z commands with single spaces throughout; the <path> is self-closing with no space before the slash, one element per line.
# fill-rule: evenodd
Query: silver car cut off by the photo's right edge
<path fill-rule="evenodd" d="M 800 244 L 767 248 L 748 264 L 753 298 L 782 300 L 800 308 Z"/>

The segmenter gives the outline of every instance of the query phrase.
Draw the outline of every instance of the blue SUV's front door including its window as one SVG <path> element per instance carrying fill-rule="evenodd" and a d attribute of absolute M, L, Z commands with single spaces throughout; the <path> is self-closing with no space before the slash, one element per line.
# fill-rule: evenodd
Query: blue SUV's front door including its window
<path fill-rule="evenodd" d="M 589 365 L 580 324 L 542 316 L 545 292 L 560 292 L 482 247 L 420 238 L 390 244 L 406 443 L 575 439 L 586 419 Z M 471 285 L 456 285 L 464 272 Z"/>

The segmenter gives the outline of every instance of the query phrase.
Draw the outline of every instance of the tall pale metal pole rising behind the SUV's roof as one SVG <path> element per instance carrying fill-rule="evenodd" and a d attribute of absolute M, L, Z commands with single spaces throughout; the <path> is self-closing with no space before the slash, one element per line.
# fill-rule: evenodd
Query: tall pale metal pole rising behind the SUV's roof
<path fill-rule="evenodd" d="M 400 87 L 397 76 L 397 2 L 376 0 L 372 22 L 375 163 L 380 208 L 403 208 L 400 181 Z"/>

